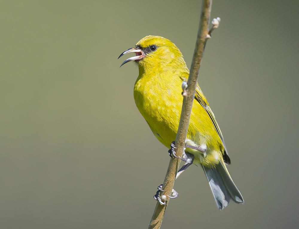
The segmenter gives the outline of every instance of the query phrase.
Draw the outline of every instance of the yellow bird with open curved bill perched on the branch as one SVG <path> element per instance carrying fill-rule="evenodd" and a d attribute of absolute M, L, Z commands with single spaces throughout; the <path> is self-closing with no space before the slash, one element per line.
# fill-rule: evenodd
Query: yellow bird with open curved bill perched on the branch
<path fill-rule="evenodd" d="M 131 52 L 136 56 L 126 59 L 120 66 L 129 61 L 138 64 L 139 76 L 134 86 L 136 106 L 155 137 L 164 146 L 171 146 L 169 154 L 176 157 L 173 140 L 176 139 L 181 115 L 181 85 L 183 81 L 187 82 L 189 69 L 180 50 L 164 37 L 146 36 L 119 58 Z M 225 166 L 231 161 L 223 136 L 198 84 L 185 147 L 181 159 L 186 163 L 176 178 L 192 163 L 201 165 L 219 209 L 225 208 L 231 199 L 237 203 L 244 202 Z M 161 190 L 161 186 L 158 189 Z M 164 204 L 161 199 L 158 200 Z"/>

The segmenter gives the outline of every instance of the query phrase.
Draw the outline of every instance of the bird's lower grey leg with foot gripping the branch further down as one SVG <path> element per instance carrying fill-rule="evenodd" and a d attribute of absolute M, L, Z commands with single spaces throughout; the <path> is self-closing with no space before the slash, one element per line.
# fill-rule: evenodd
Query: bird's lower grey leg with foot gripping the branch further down
<path fill-rule="evenodd" d="M 181 175 L 186 170 L 186 168 L 188 168 L 193 163 L 193 160 L 194 160 L 193 154 L 186 153 L 185 155 L 187 157 L 186 163 L 182 166 L 182 168 L 179 169 L 178 173 L 176 174 L 176 179 L 179 177 L 179 175 Z M 158 191 L 154 195 L 154 199 L 157 200 L 161 205 L 166 205 L 166 203 L 165 203 L 166 202 L 166 196 L 162 195 L 160 197 L 160 193 L 165 191 L 165 190 L 163 190 L 162 187 L 163 187 L 163 184 L 158 186 Z M 173 189 L 171 191 L 171 195 L 168 196 L 168 197 L 174 199 L 178 196 L 179 196 L 179 193 L 176 190 Z"/>

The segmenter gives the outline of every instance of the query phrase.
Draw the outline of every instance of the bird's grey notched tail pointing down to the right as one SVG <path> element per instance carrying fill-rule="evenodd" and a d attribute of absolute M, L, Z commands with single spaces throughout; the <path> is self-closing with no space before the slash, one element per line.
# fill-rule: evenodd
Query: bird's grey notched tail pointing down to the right
<path fill-rule="evenodd" d="M 244 203 L 243 197 L 229 175 L 225 164 L 221 161 L 216 167 L 202 165 L 208 179 L 217 207 L 222 210 L 232 200 Z"/>

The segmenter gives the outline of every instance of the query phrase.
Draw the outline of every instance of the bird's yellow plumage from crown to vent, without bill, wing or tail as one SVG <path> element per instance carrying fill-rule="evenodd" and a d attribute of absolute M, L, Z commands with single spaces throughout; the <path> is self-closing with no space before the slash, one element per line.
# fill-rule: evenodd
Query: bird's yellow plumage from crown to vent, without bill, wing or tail
<path fill-rule="evenodd" d="M 152 44 L 158 46 L 155 52 L 147 54 L 147 58 L 138 62 L 139 76 L 134 86 L 134 99 L 154 135 L 169 147 L 176 139 L 183 102 L 181 84 L 183 79 L 187 81 L 189 70 L 181 52 L 171 41 L 147 36 L 137 44 L 140 47 Z M 198 85 L 196 91 L 208 104 Z M 189 140 L 196 146 L 207 146 L 207 157 L 202 158 L 202 164 L 213 165 L 222 158 L 220 155 L 224 153 L 224 147 L 220 137 L 209 115 L 196 100 L 193 102 L 187 133 L 187 141 Z M 195 152 L 196 154 L 199 152 Z M 196 162 L 199 163 L 198 160 L 194 163 Z"/>

